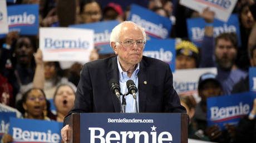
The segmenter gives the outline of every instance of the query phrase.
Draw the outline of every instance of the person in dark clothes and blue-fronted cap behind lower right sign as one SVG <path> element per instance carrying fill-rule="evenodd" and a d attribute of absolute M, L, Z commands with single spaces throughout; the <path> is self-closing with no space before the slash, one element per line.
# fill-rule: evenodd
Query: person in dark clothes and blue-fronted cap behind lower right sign
<path fill-rule="evenodd" d="M 218 125 L 207 126 L 207 98 L 223 95 L 223 88 L 216 79 L 216 75 L 205 73 L 200 76 L 198 82 L 198 94 L 201 101 L 196 104 L 195 114 L 191 119 L 196 130 L 196 136 L 199 139 L 206 139 L 205 136 L 214 142 L 229 142 L 232 140 L 234 126 L 226 125 L 227 130 L 220 130 Z"/>

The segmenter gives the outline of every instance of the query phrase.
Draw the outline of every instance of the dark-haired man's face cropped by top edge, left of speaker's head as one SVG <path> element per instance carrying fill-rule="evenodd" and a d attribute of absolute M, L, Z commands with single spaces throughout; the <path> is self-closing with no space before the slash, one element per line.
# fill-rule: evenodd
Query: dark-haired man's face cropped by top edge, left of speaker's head
<path fill-rule="evenodd" d="M 99 22 L 102 18 L 100 3 L 96 0 L 83 2 L 80 10 L 83 23 Z"/>

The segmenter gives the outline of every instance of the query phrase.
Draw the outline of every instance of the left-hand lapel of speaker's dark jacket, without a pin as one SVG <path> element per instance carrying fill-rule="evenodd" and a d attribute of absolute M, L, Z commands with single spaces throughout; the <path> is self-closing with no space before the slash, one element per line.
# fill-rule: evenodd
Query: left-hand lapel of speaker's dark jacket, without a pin
<path fill-rule="evenodd" d="M 109 82 L 110 79 L 112 79 L 112 78 L 119 81 L 119 72 L 118 72 L 119 70 L 117 68 L 117 56 L 112 57 L 108 64 L 109 64 L 108 65 L 109 69 L 107 69 L 107 82 Z M 120 109 L 119 101 L 118 101 L 116 95 L 114 93 L 111 93 L 111 98 L 112 98 L 115 112 L 120 113 L 121 109 Z"/>

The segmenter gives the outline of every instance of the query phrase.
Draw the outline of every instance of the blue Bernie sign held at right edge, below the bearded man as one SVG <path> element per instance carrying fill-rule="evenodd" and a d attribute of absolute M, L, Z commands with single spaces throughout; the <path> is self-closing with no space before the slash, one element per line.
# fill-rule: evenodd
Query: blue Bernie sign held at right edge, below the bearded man
<path fill-rule="evenodd" d="M 256 94 L 253 92 L 208 98 L 208 126 L 217 124 L 221 129 L 225 129 L 225 123 L 238 125 L 240 118 L 252 110 L 254 98 Z"/>

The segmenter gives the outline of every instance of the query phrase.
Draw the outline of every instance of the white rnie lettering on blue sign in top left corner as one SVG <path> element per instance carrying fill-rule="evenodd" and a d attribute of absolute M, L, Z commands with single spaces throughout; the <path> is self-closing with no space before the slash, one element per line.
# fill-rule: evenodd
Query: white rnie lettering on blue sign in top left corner
<path fill-rule="evenodd" d="M 28 14 L 24 12 L 23 14 L 8 16 L 8 24 L 34 24 L 36 22 L 35 14 Z"/>

